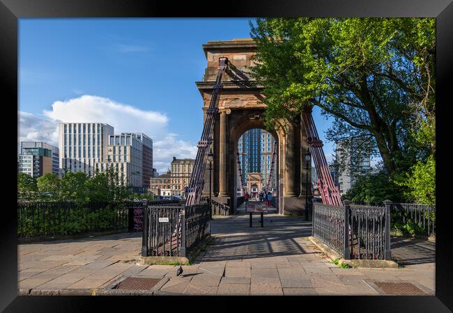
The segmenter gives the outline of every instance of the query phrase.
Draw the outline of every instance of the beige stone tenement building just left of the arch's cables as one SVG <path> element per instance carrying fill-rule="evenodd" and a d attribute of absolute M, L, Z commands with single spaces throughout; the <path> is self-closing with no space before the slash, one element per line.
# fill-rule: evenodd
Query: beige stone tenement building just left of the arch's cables
<path fill-rule="evenodd" d="M 185 198 L 185 187 L 189 186 L 190 175 L 194 169 L 194 159 L 176 159 L 171 161 L 171 195 Z"/>

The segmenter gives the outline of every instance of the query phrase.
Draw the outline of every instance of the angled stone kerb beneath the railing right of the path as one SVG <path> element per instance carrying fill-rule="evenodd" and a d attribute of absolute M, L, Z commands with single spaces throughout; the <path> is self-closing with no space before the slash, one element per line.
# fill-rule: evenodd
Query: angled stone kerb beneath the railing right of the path
<path fill-rule="evenodd" d="M 309 236 L 309 240 L 314 243 L 329 259 L 338 259 L 338 264 L 348 264 L 353 268 L 398 268 L 394 261 L 385 259 L 344 259 L 337 251 L 333 250 L 321 240 L 314 236 Z"/>

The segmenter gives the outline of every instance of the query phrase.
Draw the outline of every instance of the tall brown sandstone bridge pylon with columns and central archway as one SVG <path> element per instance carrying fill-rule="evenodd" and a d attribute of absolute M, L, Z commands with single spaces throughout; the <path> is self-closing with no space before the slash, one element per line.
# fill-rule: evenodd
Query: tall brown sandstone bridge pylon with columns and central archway
<path fill-rule="evenodd" d="M 218 193 L 215 200 L 229 204 L 231 211 L 234 211 L 238 187 L 236 186 L 238 140 L 249 129 L 266 129 L 264 125 L 266 104 L 262 103 L 263 86 L 259 86 L 252 79 L 247 68 L 254 65 L 250 57 L 256 54 L 256 44 L 252 39 L 210 41 L 203 45 L 203 49 L 208 65 L 204 80 L 196 83 L 203 98 L 204 120 L 213 92 L 219 58 L 225 56 L 229 60 L 220 93 L 219 114 L 214 127 L 212 190 L 213 193 Z M 312 164 L 308 164 L 307 171 L 305 153 L 308 144 L 301 123 L 302 121 L 298 120 L 294 124 L 289 124 L 289 127 L 277 131 L 266 129 L 275 138 L 278 147 L 274 173 L 277 177 L 279 214 L 302 215 L 307 192 L 309 205 L 312 199 L 312 188 L 307 188 L 312 184 Z M 204 195 L 208 192 L 209 171 L 206 170 Z"/>

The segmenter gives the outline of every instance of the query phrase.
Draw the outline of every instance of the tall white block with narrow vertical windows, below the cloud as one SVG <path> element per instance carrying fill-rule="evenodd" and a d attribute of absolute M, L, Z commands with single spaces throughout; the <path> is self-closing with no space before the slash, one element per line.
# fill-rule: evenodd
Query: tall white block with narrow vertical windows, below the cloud
<path fill-rule="evenodd" d="M 95 163 L 107 157 L 107 142 L 114 128 L 104 123 L 60 123 L 60 168 L 64 172 L 95 174 Z"/>

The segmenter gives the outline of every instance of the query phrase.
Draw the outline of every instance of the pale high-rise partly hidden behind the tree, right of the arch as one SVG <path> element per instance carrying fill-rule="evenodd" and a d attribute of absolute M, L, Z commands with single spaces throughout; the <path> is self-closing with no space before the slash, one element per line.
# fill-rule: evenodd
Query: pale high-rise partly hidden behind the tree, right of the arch
<path fill-rule="evenodd" d="M 371 156 L 361 149 L 360 141 L 341 141 L 337 143 L 336 159 L 338 167 L 338 182 L 340 194 L 348 192 L 354 186 L 357 177 L 366 175 L 370 171 Z"/>

